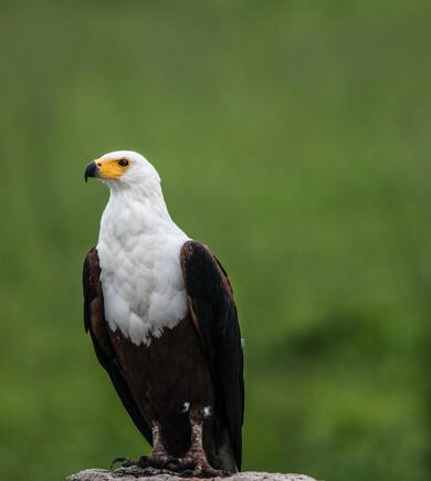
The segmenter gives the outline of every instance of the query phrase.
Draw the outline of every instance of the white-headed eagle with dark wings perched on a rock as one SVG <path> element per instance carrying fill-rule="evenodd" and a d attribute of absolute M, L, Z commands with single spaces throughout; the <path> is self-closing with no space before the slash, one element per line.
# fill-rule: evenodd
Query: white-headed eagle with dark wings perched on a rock
<path fill-rule="evenodd" d="M 241 470 L 243 352 L 228 274 L 171 219 L 155 167 L 105 154 L 111 190 L 83 272 L 84 323 L 123 406 L 153 447 L 124 466 L 216 477 Z"/>

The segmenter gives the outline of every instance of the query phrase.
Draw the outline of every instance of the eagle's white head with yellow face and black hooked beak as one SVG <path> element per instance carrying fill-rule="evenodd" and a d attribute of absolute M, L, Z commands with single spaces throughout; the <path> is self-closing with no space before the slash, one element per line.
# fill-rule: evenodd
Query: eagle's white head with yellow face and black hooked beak
<path fill-rule="evenodd" d="M 90 163 L 85 169 L 85 181 L 88 177 L 96 177 L 111 188 L 160 184 L 160 177 L 153 165 L 132 150 L 112 151 Z"/>

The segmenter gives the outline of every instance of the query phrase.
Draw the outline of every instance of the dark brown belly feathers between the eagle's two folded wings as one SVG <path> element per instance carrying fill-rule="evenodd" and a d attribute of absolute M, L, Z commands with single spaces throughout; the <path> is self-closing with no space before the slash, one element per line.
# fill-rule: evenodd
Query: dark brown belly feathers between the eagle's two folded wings
<path fill-rule="evenodd" d="M 157 420 L 168 452 L 183 456 L 190 447 L 185 406 L 209 407 L 211 414 L 217 410 L 211 375 L 192 321 L 187 317 L 172 330 L 165 330 L 149 346 L 133 344 L 119 330 L 109 330 L 109 336 L 145 421 L 151 426 Z M 221 438 L 217 419 L 208 416 L 203 429 L 204 449 L 216 467 L 219 462 L 213 440 Z"/>

